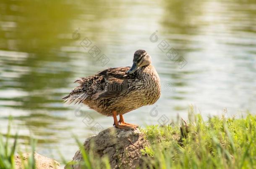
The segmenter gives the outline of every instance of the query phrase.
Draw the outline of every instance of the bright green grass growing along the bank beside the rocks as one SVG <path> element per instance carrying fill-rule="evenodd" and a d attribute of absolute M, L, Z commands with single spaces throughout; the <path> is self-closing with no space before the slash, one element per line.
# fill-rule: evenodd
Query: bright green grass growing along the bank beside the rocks
<path fill-rule="evenodd" d="M 212 117 L 204 121 L 196 115 L 181 126 L 170 124 L 141 129 L 150 142 L 150 146 L 142 150 L 145 162 L 141 168 L 256 168 L 256 116 Z M 0 168 L 13 167 L 15 145 L 7 142 L 0 141 Z M 90 153 L 83 154 L 86 168 L 110 167 L 107 159 L 101 161 Z"/>

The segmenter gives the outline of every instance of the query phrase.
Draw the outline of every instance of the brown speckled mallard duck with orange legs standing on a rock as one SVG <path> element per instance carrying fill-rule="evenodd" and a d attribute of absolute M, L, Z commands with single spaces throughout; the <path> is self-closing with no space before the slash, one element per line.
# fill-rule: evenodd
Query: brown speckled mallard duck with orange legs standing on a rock
<path fill-rule="evenodd" d="M 74 83 L 78 86 L 63 98 L 66 103 L 84 103 L 100 114 L 113 116 L 113 125 L 125 130 L 138 125 L 125 123 L 123 114 L 154 104 L 161 94 L 160 78 L 145 50 L 136 50 L 131 67 L 108 68 Z"/>

